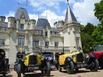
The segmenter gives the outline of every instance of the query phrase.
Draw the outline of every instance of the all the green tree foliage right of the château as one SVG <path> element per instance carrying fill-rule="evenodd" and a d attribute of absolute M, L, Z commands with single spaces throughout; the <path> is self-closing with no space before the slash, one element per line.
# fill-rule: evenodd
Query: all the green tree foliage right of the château
<path fill-rule="evenodd" d="M 101 24 L 94 26 L 88 23 L 86 26 L 81 25 L 81 40 L 84 52 L 89 52 L 90 47 L 98 44 L 103 45 L 103 0 L 95 4 L 95 16 Z"/>

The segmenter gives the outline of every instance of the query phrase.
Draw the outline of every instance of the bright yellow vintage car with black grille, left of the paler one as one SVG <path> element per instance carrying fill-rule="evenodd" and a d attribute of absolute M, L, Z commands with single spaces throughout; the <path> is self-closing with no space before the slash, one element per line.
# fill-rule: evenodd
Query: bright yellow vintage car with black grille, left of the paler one
<path fill-rule="evenodd" d="M 21 77 L 21 74 L 25 75 L 36 70 L 41 70 L 44 75 L 50 75 L 50 62 L 45 60 L 40 53 L 26 54 L 23 59 L 19 55 L 15 62 L 14 70 L 17 72 L 18 77 Z"/>

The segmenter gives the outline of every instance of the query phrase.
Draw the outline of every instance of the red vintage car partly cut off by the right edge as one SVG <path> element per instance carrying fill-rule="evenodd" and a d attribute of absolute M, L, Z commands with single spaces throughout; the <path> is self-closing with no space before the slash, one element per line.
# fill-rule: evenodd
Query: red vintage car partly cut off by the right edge
<path fill-rule="evenodd" d="M 103 69 L 103 45 L 95 45 L 91 48 L 90 55 L 95 56 L 99 61 L 100 68 Z"/>

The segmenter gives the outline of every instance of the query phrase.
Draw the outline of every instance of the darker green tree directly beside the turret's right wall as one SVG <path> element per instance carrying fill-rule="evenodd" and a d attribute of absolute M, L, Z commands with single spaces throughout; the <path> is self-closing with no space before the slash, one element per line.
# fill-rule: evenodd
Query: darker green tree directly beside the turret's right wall
<path fill-rule="evenodd" d="M 96 27 L 90 23 L 88 23 L 86 26 L 80 26 L 82 46 L 85 53 L 89 52 L 90 47 L 94 46 L 94 39 L 92 37 L 92 33 L 94 32 L 95 28 Z"/>

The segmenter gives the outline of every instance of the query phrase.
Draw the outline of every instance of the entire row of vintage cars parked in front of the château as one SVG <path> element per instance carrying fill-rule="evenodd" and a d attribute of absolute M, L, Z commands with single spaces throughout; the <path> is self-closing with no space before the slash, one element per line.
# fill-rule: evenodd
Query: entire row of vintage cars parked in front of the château
<path fill-rule="evenodd" d="M 18 77 L 21 77 L 21 74 L 25 75 L 28 72 L 34 72 L 36 70 L 40 70 L 43 75 L 47 76 L 51 74 L 52 69 L 57 69 L 60 72 L 64 69 L 69 74 L 76 73 L 80 68 L 98 71 L 99 67 L 103 68 L 103 52 L 100 51 L 102 49 L 101 46 L 95 46 L 95 51 L 92 49 L 92 52 L 89 54 L 84 54 L 78 50 L 67 53 L 56 53 L 55 55 L 52 52 L 28 54 L 18 52 L 14 70 L 17 72 Z M 5 76 L 8 72 L 9 59 L 5 58 L 5 51 L 0 49 L 0 74 Z"/>

